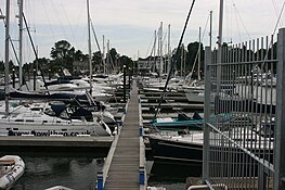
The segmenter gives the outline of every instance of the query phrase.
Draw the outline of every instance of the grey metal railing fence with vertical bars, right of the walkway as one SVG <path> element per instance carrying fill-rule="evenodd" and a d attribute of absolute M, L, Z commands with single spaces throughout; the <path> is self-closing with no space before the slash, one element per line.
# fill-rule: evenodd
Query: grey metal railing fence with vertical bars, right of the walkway
<path fill-rule="evenodd" d="M 284 30 L 206 48 L 203 177 L 211 189 L 284 189 Z"/>

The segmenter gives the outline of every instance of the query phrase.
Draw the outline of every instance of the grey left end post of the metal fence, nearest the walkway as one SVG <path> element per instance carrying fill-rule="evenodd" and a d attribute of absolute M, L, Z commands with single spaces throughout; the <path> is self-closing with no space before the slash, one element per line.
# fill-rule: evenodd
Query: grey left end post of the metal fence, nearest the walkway
<path fill-rule="evenodd" d="M 204 109 L 204 145 L 203 145 L 203 179 L 209 180 L 209 122 L 210 115 L 210 93 L 211 93 L 211 76 L 210 76 L 210 63 L 211 63 L 211 49 L 205 48 L 205 109 Z"/>

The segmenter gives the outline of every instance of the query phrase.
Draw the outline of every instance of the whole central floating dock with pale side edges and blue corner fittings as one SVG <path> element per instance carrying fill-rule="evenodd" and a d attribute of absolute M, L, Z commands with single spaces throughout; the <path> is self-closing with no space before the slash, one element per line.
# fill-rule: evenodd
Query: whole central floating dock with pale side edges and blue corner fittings
<path fill-rule="evenodd" d="M 99 190 L 145 189 L 145 156 L 140 137 L 141 119 L 135 81 L 126 113 L 124 126 L 115 137 L 102 173 L 99 173 Z"/>

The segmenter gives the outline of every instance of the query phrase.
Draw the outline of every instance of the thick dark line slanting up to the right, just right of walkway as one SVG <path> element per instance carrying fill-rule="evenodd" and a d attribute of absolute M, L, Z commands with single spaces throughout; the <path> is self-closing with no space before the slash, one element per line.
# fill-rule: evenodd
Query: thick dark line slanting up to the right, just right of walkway
<path fill-rule="evenodd" d="M 189 23 L 190 15 L 191 15 L 191 13 L 192 13 L 194 3 L 195 3 L 195 0 L 192 1 L 192 4 L 191 4 L 190 11 L 189 11 L 186 21 L 185 21 L 185 23 L 184 23 L 184 27 L 183 27 L 183 30 L 182 30 L 182 34 L 181 34 L 181 37 L 180 37 L 180 40 L 179 40 L 179 43 L 178 43 L 178 47 L 177 47 L 177 52 L 176 52 L 176 54 L 174 54 L 174 60 L 173 60 L 174 63 L 171 61 L 171 66 L 170 66 L 170 71 L 169 71 L 169 73 L 168 73 L 168 75 L 167 75 L 167 80 L 166 80 L 166 85 L 165 85 L 165 87 L 164 87 L 164 92 L 163 92 L 163 94 L 161 94 L 161 97 L 160 97 L 160 100 L 159 100 L 159 103 L 158 103 L 158 105 L 157 105 L 157 109 L 156 109 L 156 113 L 155 113 L 155 115 L 154 115 L 154 118 L 156 118 L 156 115 L 157 115 L 157 113 L 158 113 L 158 111 L 159 111 L 159 107 L 160 107 L 160 105 L 161 105 L 161 102 L 163 102 L 163 99 L 164 99 L 164 97 L 165 97 L 165 92 L 166 92 L 166 89 L 167 89 L 167 85 L 168 85 L 168 83 L 169 83 L 169 80 L 170 80 L 170 75 L 171 75 L 171 73 L 172 73 L 172 71 L 173 71 L 174 64 L 177 64 L 177 62 L 178 62 L 178 56 L 180 55 L 180 51 L 181 51 L 181 45 L 182 45 L 182 41 L 183 41 L 183 37 L 184 37 L 184 34 L 185 34 L 185 30 L 186 30 L 186 27 L 187 27 L 187 23 Z"/>

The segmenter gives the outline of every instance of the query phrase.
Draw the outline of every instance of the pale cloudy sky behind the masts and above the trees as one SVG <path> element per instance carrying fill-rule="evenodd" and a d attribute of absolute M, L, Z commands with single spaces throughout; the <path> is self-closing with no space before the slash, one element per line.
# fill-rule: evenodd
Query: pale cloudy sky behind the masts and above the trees
<path fill-rule="evenodd" d="M 178 46 L 186 15 L 193 0 L 90 0 L 90 16 L 103 47 L 103 35 L 109 47 L 120 55 L 135 60 L 151 54 L 154 31 L 160 22 L 164 26 L 164 47 L 167 45 L 170 25 L 170 47 Z M 209 46 L 209 12 L 212 11 L 212 47 L 216 46 L 219 21 L 219 0 L 196 0 L 183 39 L 185 45 L 198 41 Z M 284 0 L 224 0 L 223 41 L 238 43 L 270 36 L 274 28 L 285 26 L 285 14 L 281 15 Z M 18 51 L 17 0 L 10 0 L 10 35 Z M 7 0 L 0 0 L 5 14 Z M 39 58 L 50 58 L 51 48 L 60 40 L 67 40 L 76 50 L 88 53 L 88 25 L 86 0 L 24 0 L 24 14 L 28 21 Z M 280 23 L 277 18 L 281 15 Z M 4 24 L 0 21 L 0 61 L 4 60 Z M 91 31 L 92 52 L 98 51 Z M 24 62 L 31 62 L 35 55 L 24 30 Z M 166 48 L 164 48 L 166 50 Z M 166 51 L 165 51 L 166 52 Z M 10 50 L 10 58 L 15 55 Z"/>

